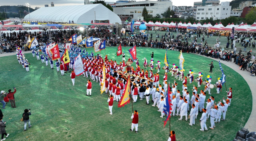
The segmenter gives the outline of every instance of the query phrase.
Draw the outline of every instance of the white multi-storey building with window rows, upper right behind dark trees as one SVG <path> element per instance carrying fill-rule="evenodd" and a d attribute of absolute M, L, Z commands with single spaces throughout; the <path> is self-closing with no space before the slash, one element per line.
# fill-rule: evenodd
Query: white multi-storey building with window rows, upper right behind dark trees
<path fill-rule="evenodd" d="M 197 6 L 196 7 L 196 20 L 210 19 L 225 19 L 230 17 L 231 6 L 230 2 L 221 2 L 218 6 Z"/>

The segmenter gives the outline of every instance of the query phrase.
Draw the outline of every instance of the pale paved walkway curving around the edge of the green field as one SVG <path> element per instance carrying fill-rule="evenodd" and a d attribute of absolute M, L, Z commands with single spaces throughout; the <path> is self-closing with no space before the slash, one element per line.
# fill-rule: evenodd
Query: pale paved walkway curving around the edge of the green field
<path fill-rule="evenodd" d="M 24 52 L 24 54 L 27 54 L 27 53 L 32 53 L 32 51 Z M 16 52 L 0 54 L 0 57 L 11 56 L 11 55 L 16 55 Z M 218 59 L 214 59 L 211 57 L 207 57 L 207 58 L 219 61 Z M 240 71 L 238 69 L 239 66 L 237 66 L 235 63 L 226 62 L 226 61 L 222 61 L 221 63 L 225 64 L 226 66 L 232 68 L 234 71 L 238 72 L 242 77 L 244 77 L 244 79 L 248 83 L 248 85 L 252 91 L 252 113 L 251 113 L 246 125 L 244 126 L 244 128 L 248 129 L 251 132 L 256 131 L 256 102 L 254 102 L 256 100 L 256 87 L 255 87 L 255 85 L 256 85 L 255 77 L 256 76 L 255 77 L 250 76 L 250 73 L 248 71 Z"/>

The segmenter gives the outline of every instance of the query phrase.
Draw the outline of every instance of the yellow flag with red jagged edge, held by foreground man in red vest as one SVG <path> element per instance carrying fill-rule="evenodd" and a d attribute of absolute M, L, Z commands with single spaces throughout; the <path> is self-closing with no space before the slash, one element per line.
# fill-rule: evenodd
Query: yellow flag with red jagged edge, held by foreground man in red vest
<path fill-rule="evenodd" d="M 118 102 L 117 107 L 124 107 L 127 103 L 130 103 L 130 93 L 131 93 L 131 82 L 130 82 L 130 75 L 128 76 L 128 81 L 124 87 L 124 93 L 123 96 L 121 97 L 121 101 Z"/>

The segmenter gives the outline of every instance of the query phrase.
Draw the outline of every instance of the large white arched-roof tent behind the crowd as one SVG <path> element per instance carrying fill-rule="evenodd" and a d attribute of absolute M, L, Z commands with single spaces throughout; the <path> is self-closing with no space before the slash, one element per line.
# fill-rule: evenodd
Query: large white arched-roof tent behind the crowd
<path fill-rule="evenodd" d="M 95 18 L 96 21 L 109 20 L 110 24 L 122 23 L 118 15 L 102 4 L 42 7 L 27 14 L 24 20 L 86 24 Z"/>

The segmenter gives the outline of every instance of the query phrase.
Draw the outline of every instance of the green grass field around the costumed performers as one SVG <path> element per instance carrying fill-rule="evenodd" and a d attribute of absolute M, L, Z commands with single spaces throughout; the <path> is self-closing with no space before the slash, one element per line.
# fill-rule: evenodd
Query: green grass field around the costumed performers
<path fill-rule="evenodd" d="M 117 47 L 107 47 L 108 58 L 120 62 L 122 58 L 115 58 Z M 130 57 L 128 49 L 126 60 Z M 90 52 L 92 48 L 88 49 Z M 137 48 L 137 56 L 142 66 L 142 58 L 150 60 L 150 52 L 154 52 L 155 63 L 160 60 L 161 67 L 164 66 L 165 50 L 152 48 Z M 178 64 L 179 52 L 168 50 L 170 64 Z M 103 53 L 104 55 L 104 53 Z M 212 83 L 221 77 L 218 62 L 214 61 L 213 73 L 209 73 L 209 65 L 212 61 L 195 54 L 183 54 L 185 72 L 194 70 L 194 76 L 203 72 L 203 78 L 212 75 Z M 168 139 L 169 123 L 163 128 L 164 119 L 160 118 L 157 107 L 146 105 L 146 99 L 133 103 L 134 109 L 139 113 L 139 133 L 130 132 L 132 119 L 132 105 L 127 104 L 123 108 L 117 108 L 116 102 L 113 105 L 113 115 L 109 114 L 105 94 L 100 95 L 100 85 L 93 81 L 92 96 L 86 96 L 86 77 L 78 76 L 75 85 L 72 85 L 70 73 L 56 72 L 49 66 L 41 63 L 32 54 L 26 54 L 26 59 L 31 63 L 30 71 L 27 72 L 22 65 L 18 64 L 16 56 L 1 57 L 0 74 L 1 90 L 8 91 L 16 87 L 16 106 L 12 109 L 10 103 L 6 109 L 2 109 L 6 123 L 6 131 L 10 137 L 6 140 L 12 141 L 165 141 Z M 149 61 L 148 61 L 149 63 Z M 135 64 L 132 64 L 135 66 Z M 227 87 L 233 88 L 233 99 L 228 107 L 226 121 L 216 123 L 214 130 L 200 131 L 199 113 L 196 125 L 188 125 L 189 121 L 179 121 L 177 116 L 171 117 L 171 130 L 176 132 L 178 141 L 230 141 L 236 136 L 240 127 L 244 127 L 252 111 L 252 93 L 246 81 L 241 75 L 231 68 L 222 64 L 227 75 Z M 154 70 L 154 73 L 156 70 Z M 160 70 L 160 83 L 163 81 L 164 71 Z M 168 74 L 168 80 L 173 83 L 174 77 Z M 197 85 L 196 82 L 188 84 L 188 89 Z M 203 87 L 201 87 L 202 89 Z M 182 89 L 182 81 L 178 81 L 178 89 Z M 199 91 L 201 89 L 198 89 Z M 216 94 L 216 89 L 211 90 L 215 101 L 222 97 L 226 98 L 226 89 L 223 87 L 221 94 Z M 209 98 L 210 95 L 206 95 Z M 190 95 L 191 97 L 191 95 Z M 152 97 L 151 97 L 152 98 Z M 151 101 L 151 99 L 150 99 Z M 206 104 L 205 104 L 206 105 Z M 20 121 L 24 109 L 31 109 L 30 121 L 32 128 L 23 131 L 24 123 Z M 210 126 L 210 120 L 206 122 Z"/>

